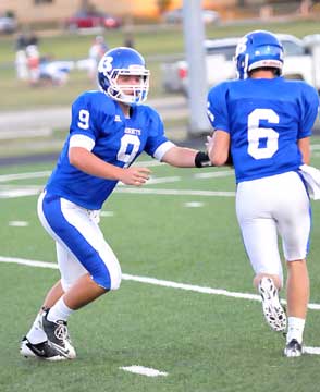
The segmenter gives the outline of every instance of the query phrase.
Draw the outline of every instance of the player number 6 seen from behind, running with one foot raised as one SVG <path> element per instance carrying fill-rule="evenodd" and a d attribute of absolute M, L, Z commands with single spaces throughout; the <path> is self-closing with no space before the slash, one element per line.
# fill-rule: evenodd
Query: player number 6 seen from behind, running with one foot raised
<path fill-rule="evenodd" d="M 223 82 L 208 95 L 214 128 L 208 152 L 214 166 L 232 158 L 237 220 L 266 320 L 275 331 L 284 331 L 287 323 L 284 355 L 300 356 L 309 299 L 306 256 L 311 217 L 299 170 L 310 160 L 319 98 L 305 82 L 281 76 L 283 47 L 269 32 L 243 37 L 235 63 L 238 79 Z M 283 271 L 278 233 L 287 268 L 287 315 L 279 299 Z"/>

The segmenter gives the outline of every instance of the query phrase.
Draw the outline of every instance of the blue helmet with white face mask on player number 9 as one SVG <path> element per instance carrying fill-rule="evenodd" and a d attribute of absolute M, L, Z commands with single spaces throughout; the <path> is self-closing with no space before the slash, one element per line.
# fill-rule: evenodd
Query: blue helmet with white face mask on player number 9
<path fill-rule="evenodd" d="M 139 84 L 119 84 L 120 75 L 137 75 Z M 104 53 L 98 64 L 98 83 L 110 98 L 126 105 L 138 105 L 147 99 L 150 71 L 145 60 L 132 48 L 119 47 Z"/>

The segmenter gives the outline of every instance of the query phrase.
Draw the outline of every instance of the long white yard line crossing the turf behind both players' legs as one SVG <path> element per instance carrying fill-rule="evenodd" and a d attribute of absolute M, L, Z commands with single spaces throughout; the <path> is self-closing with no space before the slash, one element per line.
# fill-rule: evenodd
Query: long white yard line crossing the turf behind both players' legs
<path fill-rule="evenodd" d="M 53 262 L 28 260 L 28 259 L 22 259 L 22 258 L 17 258 L 17 257 L 0 256 L 0 262 L 14 262 L 14 264 L 23 265 L 23 266 L 58 269 L 58 265 L 53 264 Z M 134 281 L 134 282 L 139 282 L 139 283 L 155 284 L 155 285 L 159 285 L 159 286 L 163 286 L 163 287 L 181 289 L 181 290 L 186 290 L 186 291 L 192 291 L 192 292 L 202 293 L 202 294 L 224 295 L 224 296 L 233 297 L 233 298 L 251 299 L 251 301 L 261 302 L 260 295 L 249 294 L 249 293 L 229 292 L 227 290 L 224 290 L 224 289 L 204 287 L 204 286 L 198 286 L 198 285 L 193 285 L 193 284 L 176 283 L 176 282 L 171 282 L 171 281 L 159 280 L 156 278 L 132 275 L 132 274 L 127 274 L 127 273 L 123 273 L 122 279 L 128 280 L 128 281 Z M 285 304 L 284 299 L 281 302 L 283 304 Z M 320 304 L 308 304 L 308 308 L 313 309 L 313 310 L 319 310 Z"/>

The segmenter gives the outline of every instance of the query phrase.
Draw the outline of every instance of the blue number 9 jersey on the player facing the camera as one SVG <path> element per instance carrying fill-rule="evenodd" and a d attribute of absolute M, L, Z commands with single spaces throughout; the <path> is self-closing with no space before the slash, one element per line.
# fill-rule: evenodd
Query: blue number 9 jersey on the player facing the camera
<path fill-rule="evenodd" d="M 153 156 L 168 142 L 163 123 L 150 107 L 132 107 L 132 115 L 126 119 L 120 106 L 106 94 L 81 95 L 72 106 L 70 134 L 46 189 L 87 209 L 100 209 L 118 181 L 86 174 L 70 164 L 70 138 L 77 134 L 94 142 L 94 155 L 120 168 L 131 166 L 143 151 Z"/>

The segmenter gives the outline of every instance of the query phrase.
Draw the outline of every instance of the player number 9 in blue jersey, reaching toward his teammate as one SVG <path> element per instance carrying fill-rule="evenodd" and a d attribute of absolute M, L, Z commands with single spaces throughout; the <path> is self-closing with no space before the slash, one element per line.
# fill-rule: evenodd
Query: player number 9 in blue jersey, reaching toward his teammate
<path fill-rule="evenodd" d="M 116 183 L 141 186 L 150 171 L 131 167 L 141 152 L 174 167 L 210 164 L 206 152 L 179 147 L 159 114 L 143 103 L 149 70 L 134 49 L 109 50 L 98 65 L 100 91 L 72 106 L 70 135 L 44 193 L 38 216 L 57 245 L 61 273 L 22 340 L 21 354 L 48 360 L 75 358 L 66 321 L 102 294 L 116 290 L 121 268 L 99 229 L 99 211 Z"/>

